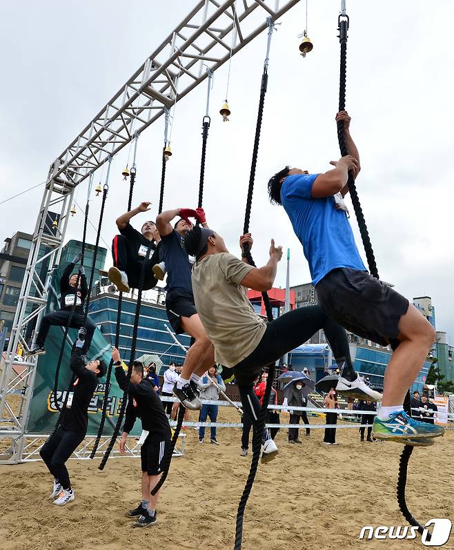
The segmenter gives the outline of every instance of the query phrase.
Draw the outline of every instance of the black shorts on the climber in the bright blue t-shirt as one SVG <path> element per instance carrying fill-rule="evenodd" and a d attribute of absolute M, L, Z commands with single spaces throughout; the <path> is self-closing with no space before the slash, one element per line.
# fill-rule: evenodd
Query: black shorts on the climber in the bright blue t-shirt
<path fill-rule="evenodd" d="M 399 341 L 399 320 L 408 299 L 366 271 L 337 268 L 315 286 L 322 310 L 348 331 L 381 346 Z"/>

